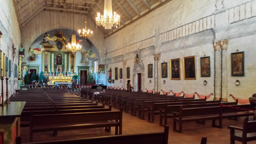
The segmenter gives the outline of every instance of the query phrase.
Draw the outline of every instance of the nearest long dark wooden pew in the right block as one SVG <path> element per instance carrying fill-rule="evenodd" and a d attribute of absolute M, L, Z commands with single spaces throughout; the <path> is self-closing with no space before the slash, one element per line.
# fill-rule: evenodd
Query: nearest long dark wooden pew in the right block
<path fill-rule="evenodd" d="M 252 105 L 231 105 L 204 108 L 183 108 L 180 106 L 179 113 L 173 113 L 173 131 L 182 132 L 182 123 L 188 121 L 212 120 L 212 127 L 222 128 L 223 118 L 233 118 L 241 116 L 253 116 Z M 219 120 L 219 125 L 215 120 Z M 176 129 L 176 123 L 179 123 L 179 130 Z"/>

